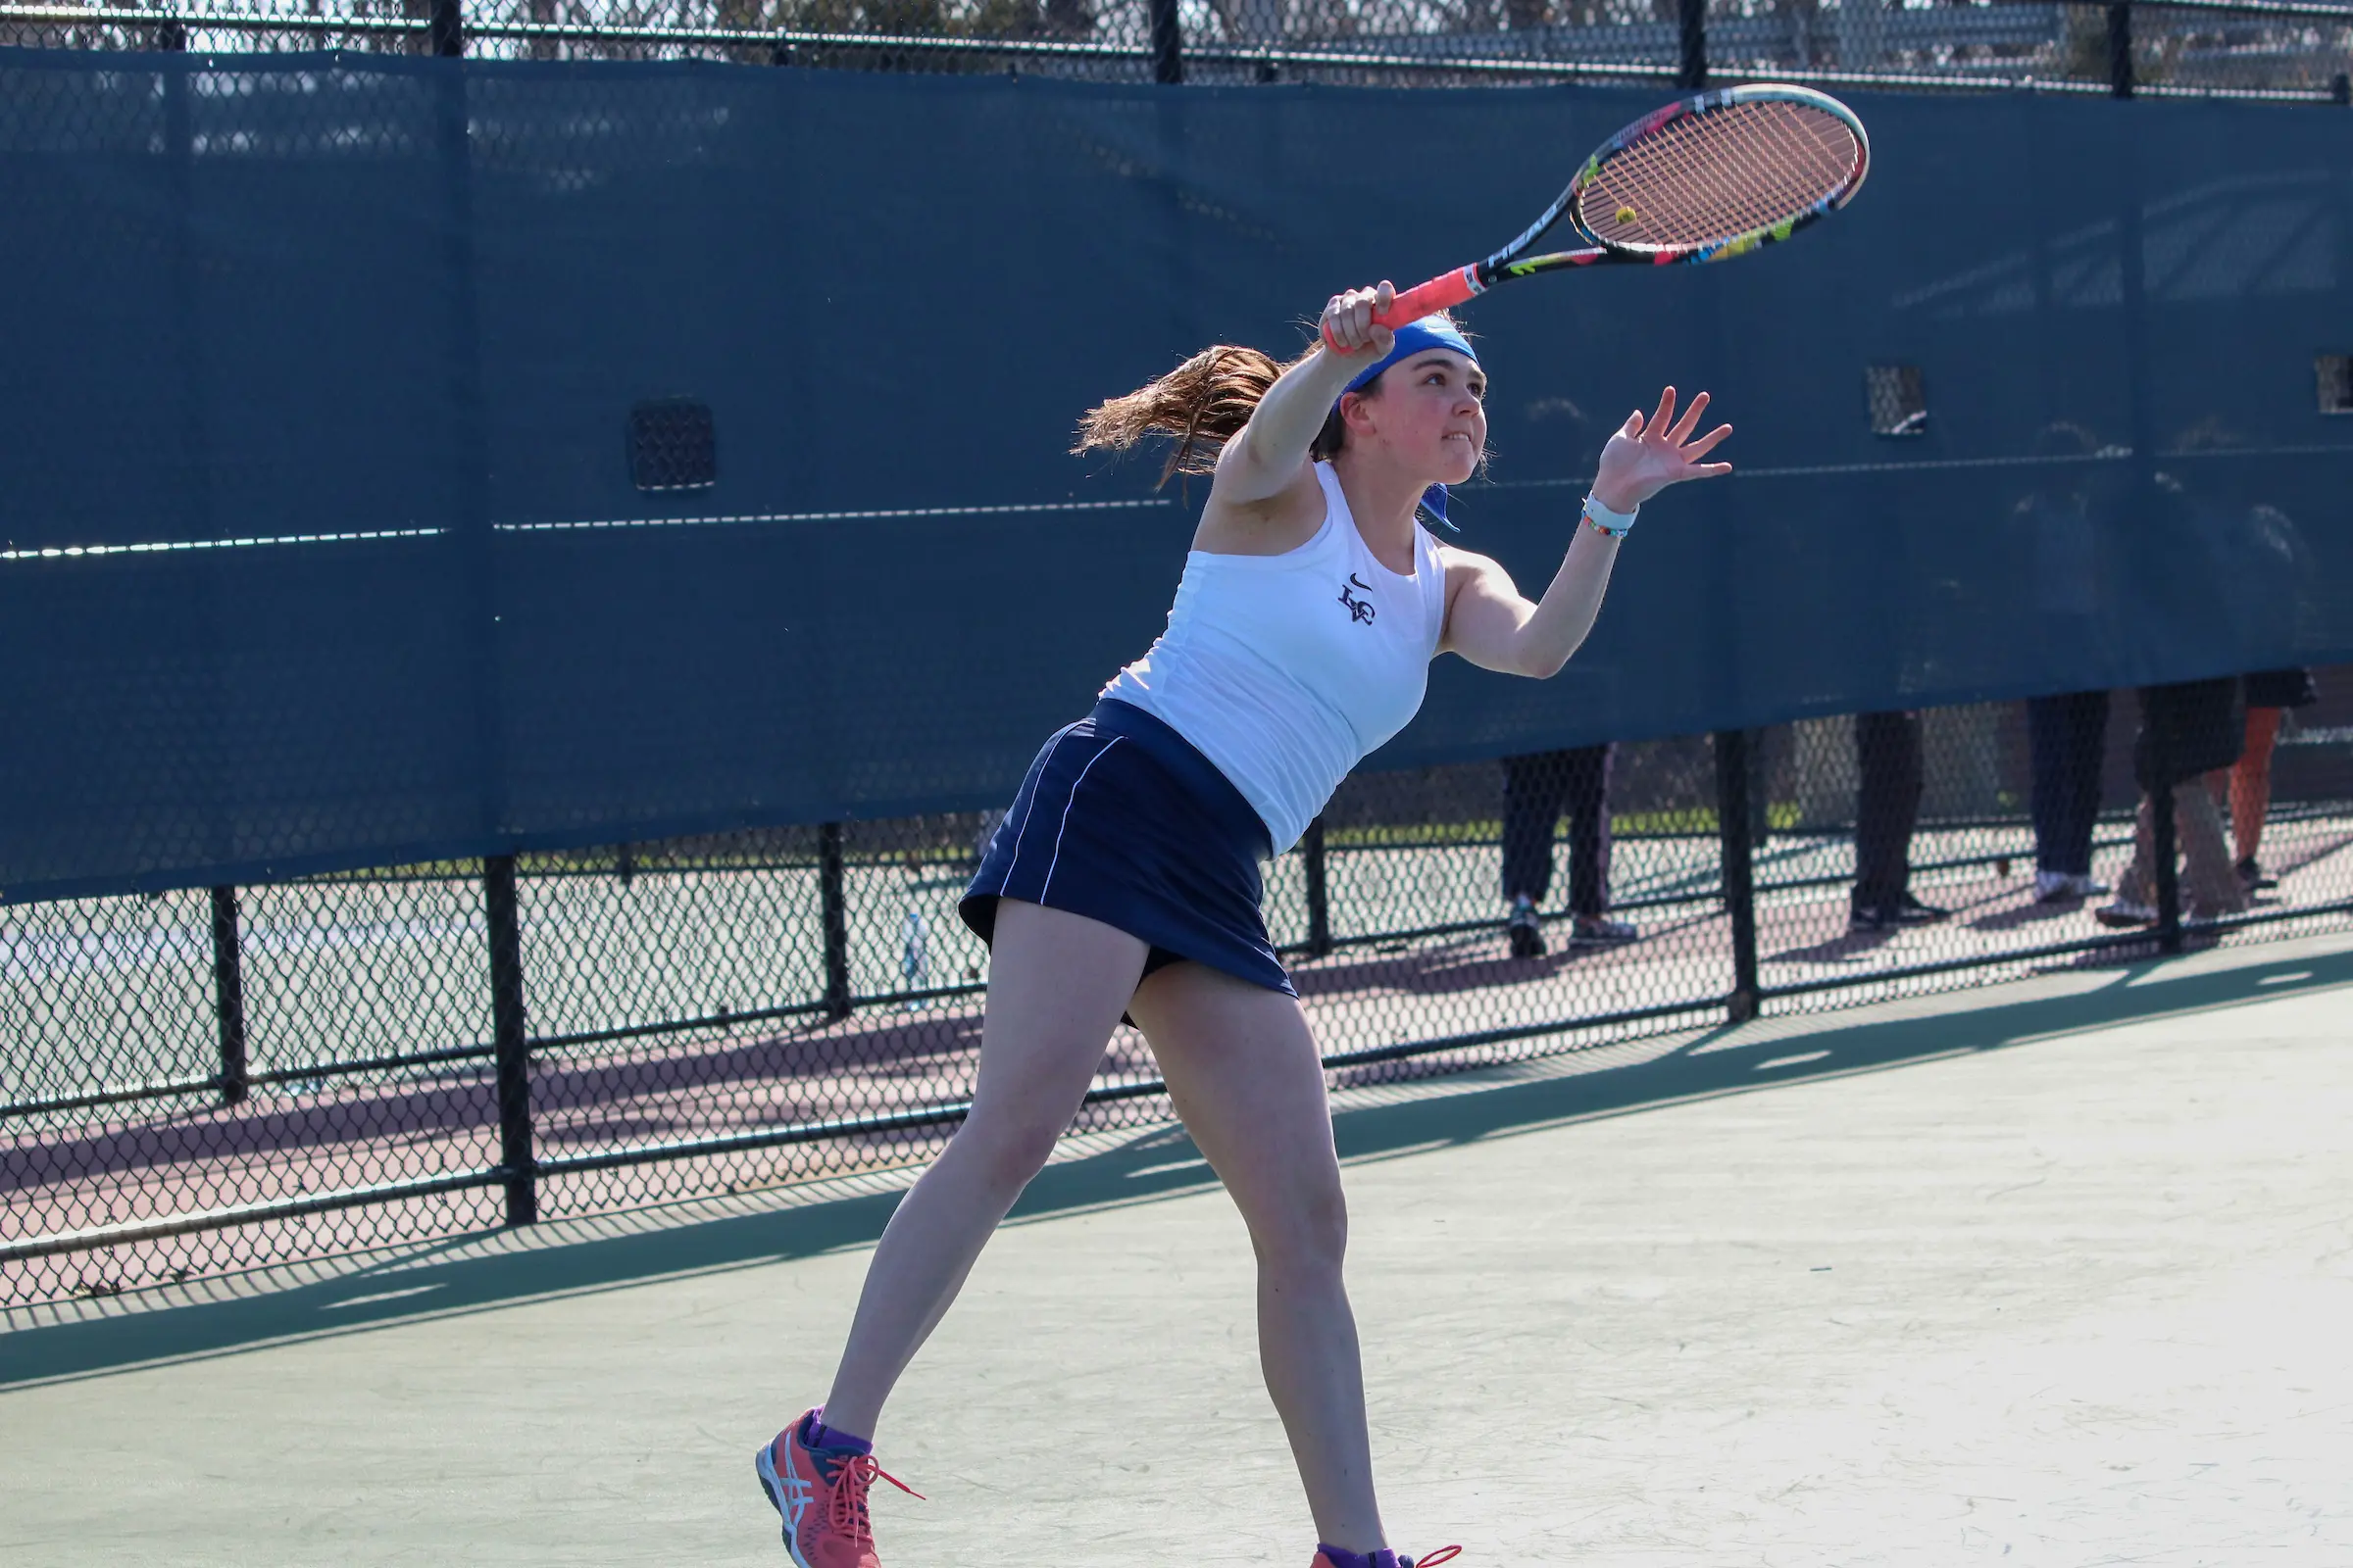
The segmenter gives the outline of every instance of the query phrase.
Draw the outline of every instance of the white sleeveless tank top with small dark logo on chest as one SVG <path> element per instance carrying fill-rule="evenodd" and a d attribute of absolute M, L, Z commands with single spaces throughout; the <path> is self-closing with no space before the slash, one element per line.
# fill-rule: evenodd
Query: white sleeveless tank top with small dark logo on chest
<path fill-rule="evenodd" d="M 1282 853 L 1332 790 L 1421 708 L 1447 618 L 1447 571 L 1414 527 L 1414 574 L 1372 557 L 1329 463 L 1325 520 L 1285 555 L 1193 550 L 1169 628 L 1104 696 L 1193 743 Z"/>

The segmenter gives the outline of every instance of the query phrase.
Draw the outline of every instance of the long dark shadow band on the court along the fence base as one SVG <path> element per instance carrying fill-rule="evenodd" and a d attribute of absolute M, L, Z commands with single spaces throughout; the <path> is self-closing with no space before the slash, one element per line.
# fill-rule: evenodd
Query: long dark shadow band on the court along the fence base
<path fill-rule="evenodd" d="M 2278 959 L 2249 954 L 2249 961 L 2231 969 L 2181 976 L 2167 976 L 2165 969 L 2165 964 L 2118 969 L 2099 990 L 2068 997 L 1991 1006 L 1974 1004 L 1977 997 L 1951 997 L 1941 999 L 1948 1006 L 1920 1018 L 1824 1016 L 1814 1030 L 1791 1030 L 1788 1020 L 1715 1030 L 1647 1063 L 1348 1110 L 1337 1119 L 1339 1147 L 1346 1159 L 1379 1159 L 1442 1143 L 1628 1114 L 1675 1100 L 1901 1067 L 2054 1034 L 2353 985 L 2353 952 Z M 1193 1145 L 1169 1131 L 1139 1138 L 1111 1154 L 1049 1166 L 1031 1182 L 1014 1218 L 1153 1201 L 1198 1192 L 1209 1180 Z M 856 1197 L 628 1237 L 525 1246 L 487 1258 L 402 1253 L 374 1269 L 240 1300 L 21 1328 L 0 1333 L 0 1387 L 104 1375 L 153 1361 L 224 1356 L 289 1338 L 341 1335 L 416 1316 L 482 1312 L 527 1298 L 626 1288 L 685 1272 L 809 1258 L 871 1244 L 882 1234 L 894 1204 L 896 1194 Z M 447 1251 L 456 1253 L 464 1246 L 468 1244 L 454 1241 Z"/>

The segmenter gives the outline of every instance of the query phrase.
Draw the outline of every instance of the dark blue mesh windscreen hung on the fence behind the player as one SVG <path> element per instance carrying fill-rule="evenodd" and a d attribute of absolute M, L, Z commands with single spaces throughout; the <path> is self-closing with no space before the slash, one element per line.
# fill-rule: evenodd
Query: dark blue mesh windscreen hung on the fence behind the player
<path fill-rule="evenodd" d="M 12 56 L 0 893 L 993 804 L 1200 501 L 1078 414 L 1492 247 L 1654 101 Z M 1457 517 L 1532 592 L 1661 381 L 1739 475 L 1647 510 L 1567 672 L 1442 661 L 1372 766 L 2353 658 L 2353 127 L 1854 103 L 1798 242 L 1466 313 Z M 633 487 L 654 400 L 713 484 Z"/>

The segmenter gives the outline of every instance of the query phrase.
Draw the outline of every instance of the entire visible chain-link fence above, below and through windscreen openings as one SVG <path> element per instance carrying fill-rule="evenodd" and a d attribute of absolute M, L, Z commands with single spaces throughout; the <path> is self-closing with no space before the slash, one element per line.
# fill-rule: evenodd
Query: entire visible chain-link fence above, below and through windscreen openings
<path fill-rule="evenodd" d="M 2344 101 L 2353 7 L 7 0 L 0 45 Z M 1908 376 L 1871 381 L 1882 435 L 1925 416 Z M 1339 1084 L 2344 929 L 2353 668 L 2266 679 L 1365 773 L 1268 872 L 1268 926 Z M 988 827 L 0 905 L 0 1305 L 922 1161 L 972 1084 Z M 1167 1114 L 1122 1032 L 1080 1126 Z"/>

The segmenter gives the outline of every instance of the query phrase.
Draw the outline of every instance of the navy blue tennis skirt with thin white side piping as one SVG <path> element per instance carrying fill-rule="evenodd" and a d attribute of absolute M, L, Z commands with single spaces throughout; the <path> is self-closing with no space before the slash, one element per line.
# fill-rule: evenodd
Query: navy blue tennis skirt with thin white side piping
<path fill-rule="evenodd" d="M 1266 940 L 1266 823 L 1217 764 L 1153 715 L 1104 698 L 1038 752 L 958 914 L 986 943 L 998 898 L 1118 926 L 1144 973 L 1191 959 L 1297 997 Z"/>

